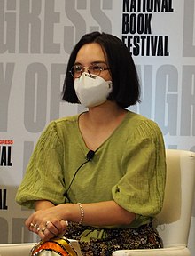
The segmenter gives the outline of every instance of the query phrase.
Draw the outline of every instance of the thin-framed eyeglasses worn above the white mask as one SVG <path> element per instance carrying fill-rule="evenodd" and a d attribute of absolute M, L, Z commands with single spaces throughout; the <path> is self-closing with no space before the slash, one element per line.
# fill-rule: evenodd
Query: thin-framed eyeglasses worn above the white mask
<path fill-rule="evenodd" d="M 101 71 L 109 70 L 110 68 L 106 68 L 106 64 L 104 62 L 100 63 L 92 63 L 89 67 L 84 67 L 80 64 L 74 64 L 74 66 L 69 70 L 70 74 L 74 76 L 74 78 L 79 78 L 82 76 L 85 68 L 88 70 L 88 73 L 91 76 L 99 76 Z"/>

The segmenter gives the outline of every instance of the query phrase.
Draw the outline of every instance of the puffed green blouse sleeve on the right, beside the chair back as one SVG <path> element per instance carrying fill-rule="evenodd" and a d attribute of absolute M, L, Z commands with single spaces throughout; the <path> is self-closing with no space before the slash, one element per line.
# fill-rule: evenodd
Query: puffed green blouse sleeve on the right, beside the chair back
<path fill-rule="evenodd" d="M 165 148 L 157 124 L 151 120 L 137 125 L 129 136 L 121 161 L 124 175 L 113 187 L 113 199 L 121 207 L 142 216 L 155 216 L 164 199 Z"/>

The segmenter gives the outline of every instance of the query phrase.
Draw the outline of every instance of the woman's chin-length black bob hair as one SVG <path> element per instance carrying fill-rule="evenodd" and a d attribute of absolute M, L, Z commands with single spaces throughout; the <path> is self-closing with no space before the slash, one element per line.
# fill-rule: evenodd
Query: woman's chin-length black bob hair
<path fill-rule="evenodd" d="M 113 91 L 107 100 L 114 100 L 122 108 L 127 108 L 139 102 L 140 85 L 136 66 L 128 48 L 118 37 L 100 32 L 92 32 L 82 36 L 80 41 L 74 46 L 67 63 L 62 100 L 70 103 L 79 103 L 74 91 L 74 78 L 69 70 L 74 66 L 76 55 L 82 46 L 91 43 L 98 43 L 102 47 L 110 68 Z"/>

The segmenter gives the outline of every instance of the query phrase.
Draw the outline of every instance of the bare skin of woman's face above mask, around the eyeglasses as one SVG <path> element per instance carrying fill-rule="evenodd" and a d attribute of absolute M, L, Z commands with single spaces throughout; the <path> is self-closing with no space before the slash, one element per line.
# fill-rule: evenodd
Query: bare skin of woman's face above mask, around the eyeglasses
<path fill-rule="evenodd" d="M 102 68 L 109 68 L 102 47 L 97 43 L 84 44 L 76 55 L 75 64 L 85 67 L 85 72 L 88 72 L 90 65 L 98 64 Z M 102 70 L 99 76 L 104 78 L 105 81 L 112 80 L 109 70 Z"/>

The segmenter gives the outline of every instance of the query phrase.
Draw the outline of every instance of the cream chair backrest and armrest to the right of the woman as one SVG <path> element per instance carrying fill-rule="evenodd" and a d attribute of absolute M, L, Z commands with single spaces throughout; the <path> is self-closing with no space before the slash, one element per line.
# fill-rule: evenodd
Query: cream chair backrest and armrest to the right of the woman
<path fill-rule="evenodd" d="M 164 248 L 119 250 L 113 256 L 190 256 L 187 248 L 195 185 L 195 153 L 167 149 L 167 182 L 163 209 L 154 220 Z"/>

